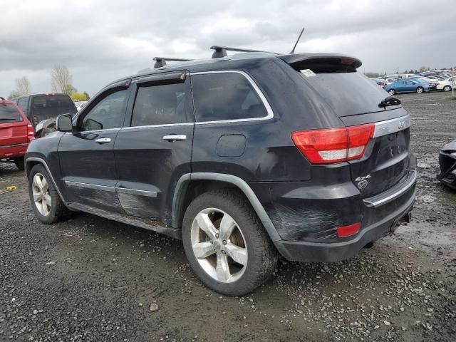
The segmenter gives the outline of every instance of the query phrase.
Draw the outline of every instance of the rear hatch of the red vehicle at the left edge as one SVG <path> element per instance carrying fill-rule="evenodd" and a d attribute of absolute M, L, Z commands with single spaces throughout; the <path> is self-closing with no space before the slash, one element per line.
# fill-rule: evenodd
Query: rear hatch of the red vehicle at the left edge
<path fill-rule="evenodd" d="M 27 122 L 11 103 L 0 103 L 0 146 L 28 142 Z"/>

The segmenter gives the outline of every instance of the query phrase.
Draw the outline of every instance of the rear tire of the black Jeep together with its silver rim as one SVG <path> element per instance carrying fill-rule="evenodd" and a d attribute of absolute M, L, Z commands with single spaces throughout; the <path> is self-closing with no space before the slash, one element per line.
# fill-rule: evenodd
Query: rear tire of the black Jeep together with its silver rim
<path fill-rule="evenodd" d="M 201 228 L 206 219 L 213 224 L 204 226 L 213 229 L 212 239 Z M 223 221 L 225 227 L 234 228 L 219 229 Z M 209 289 L 220 294 L 247 294 L 263 284 L 276 269 L 276 249 L 256 212 L 237 190 L 204 192 L 194 199 L 184 215 L 182 241 L 195 274 Z M 197 244 L 204 247 L 197 248 Z M 201 257 L 197 258 L 196 253 Z M 219 265 L 226 267 L 217 267 Z"/>

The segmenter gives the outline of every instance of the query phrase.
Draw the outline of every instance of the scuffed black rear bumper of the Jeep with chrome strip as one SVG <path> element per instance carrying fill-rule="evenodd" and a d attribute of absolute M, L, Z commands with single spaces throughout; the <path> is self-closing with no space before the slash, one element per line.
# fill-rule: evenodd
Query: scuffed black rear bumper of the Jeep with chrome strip
<path fill-rule="evenodd" d="M 274 244 L 286 259 L 329 262 L 355 256 L 410 217 L 416 179 L 416 159 L 410 154 L 400 181 L 373 197 L 363 197 L 351 181 L 269 183 L 267 191 L 256 185 L 255 192 L 279 234 Z M 338 237 L 337 227 L 356 222 L 361 222 L 357 234 Z"/>

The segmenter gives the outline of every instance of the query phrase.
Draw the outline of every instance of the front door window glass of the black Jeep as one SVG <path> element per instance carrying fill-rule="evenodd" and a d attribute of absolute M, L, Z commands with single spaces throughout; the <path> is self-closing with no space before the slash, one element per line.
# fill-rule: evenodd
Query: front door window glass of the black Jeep
<path fill-rule="evenodd" d="M 108 130 L 122 127 L 126 100 L 126 89 L 105 96 L 84 115 L 81 130 Z"/>

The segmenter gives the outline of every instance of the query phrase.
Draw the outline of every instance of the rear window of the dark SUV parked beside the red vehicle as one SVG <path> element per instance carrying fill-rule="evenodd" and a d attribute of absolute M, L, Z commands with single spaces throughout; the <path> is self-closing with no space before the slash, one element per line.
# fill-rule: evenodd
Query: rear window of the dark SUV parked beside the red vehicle
<path fill-rule="evenodd" d="M 38 95 L 31 99 L 31 113 L 28 115 L 33 125 L 40 121 L 56 118 L 61 114 L 76 114 L 76 107 L 68 95 Z"/>

